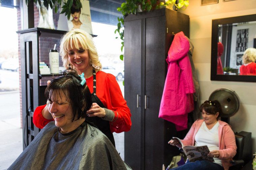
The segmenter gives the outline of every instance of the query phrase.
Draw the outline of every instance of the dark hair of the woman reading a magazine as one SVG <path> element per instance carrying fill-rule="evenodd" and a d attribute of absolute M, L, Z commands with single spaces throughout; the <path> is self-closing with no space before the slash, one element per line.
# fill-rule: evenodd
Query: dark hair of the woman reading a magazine
<path fill-rule="evenodd" d="M 217 100 L 214 100 L 214 101 L 206 100 L 203 104 L 201 104 L 199 110 L 200 112 L 204 110 L 205 112 L 213 115 L 215 115 L 217 112 L 219 112 L 219 116 L 222 114 L 221 105 Z"/>

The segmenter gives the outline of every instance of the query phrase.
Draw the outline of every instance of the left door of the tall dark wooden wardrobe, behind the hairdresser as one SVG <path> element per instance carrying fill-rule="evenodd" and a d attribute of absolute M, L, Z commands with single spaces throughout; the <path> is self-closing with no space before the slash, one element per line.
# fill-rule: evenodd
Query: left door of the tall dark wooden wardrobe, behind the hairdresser
<path fill-rule="evenodd" d="M 141 169 L 141 38 L 142 26 L 141 20 L 134 20 L 125 22 L 124 32 L 124 97 L 127 105 L 131 110 L 131 130 L 125 132 L 125 162 L 127 162 L 132 169 Z M 138 105 L 137 108 L 137 95 Z"/>

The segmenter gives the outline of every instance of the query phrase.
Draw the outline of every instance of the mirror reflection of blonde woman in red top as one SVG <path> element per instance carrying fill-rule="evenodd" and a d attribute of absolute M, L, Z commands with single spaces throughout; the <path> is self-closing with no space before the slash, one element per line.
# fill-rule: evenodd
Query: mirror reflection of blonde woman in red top
<path fill-rule="evenodd" d="M 244 64 L 240 67 L 240 75 L 256 75 L 256 49 L 246 49 L 242 58 Z"/>

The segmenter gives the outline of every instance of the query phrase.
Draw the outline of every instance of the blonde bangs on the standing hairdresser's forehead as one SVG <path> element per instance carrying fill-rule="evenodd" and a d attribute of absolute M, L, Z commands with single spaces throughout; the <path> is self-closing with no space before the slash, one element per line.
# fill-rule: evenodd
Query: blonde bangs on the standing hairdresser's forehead
<path fill-rule="evenodd" d="M 78 46 L 78 43 L 81 44 L 82 48 L 84 50 L 87 50 L 88 47 L 87 47 L 87 42 L 86 42 L 86 39 L 84 39 L 82 37 L 83 35 L 81 35 L 80 33 L 76 33 L 76 34 L 73 34 L 71 37 L 70 37 L 70 44 L 67 44 L 67 51 L 68 51 L 68 47 L 71 47 L 72 49 L 76 48 L 77 50 L 79 50 L 79 46 Z"/>

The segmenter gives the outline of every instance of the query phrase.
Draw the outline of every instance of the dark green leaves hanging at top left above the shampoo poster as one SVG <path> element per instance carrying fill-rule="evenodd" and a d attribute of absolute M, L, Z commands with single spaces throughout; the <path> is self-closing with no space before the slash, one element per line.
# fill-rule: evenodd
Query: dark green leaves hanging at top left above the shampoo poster
<path fill-rule="evenodd" d="M 28 5 L 28 3 L 30 2 L 31 0 L 25 0 L 26 4 Z M 61 5 L 61 2 L 62 0 L 33 0 L 34 3 L 37 5 L 39 5 L 41 7 L 41 5 L 44 5 L 47 9 L 50 8 L 53 9 L 54 8 L 54 11 L 55 13 L 58 12 L 58 9 Z M 64 2 L 64 4 L 62 5 L 62 11 L 60 12 L 61 14 L 62 13 L 65 13 L 65 16 L 67 16 L 68 20 L 70 18 L 70 15 L 71 15 L 71 6 L 73 4 L 73 1 L 75 1 L 75 4 L 76 4 L 76 8 L 82 8 L 82 3 L 80 0 L 67 0 L 67 2 Z"/>

